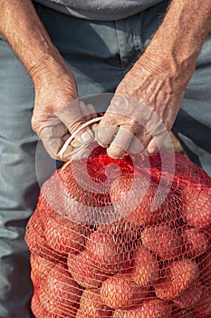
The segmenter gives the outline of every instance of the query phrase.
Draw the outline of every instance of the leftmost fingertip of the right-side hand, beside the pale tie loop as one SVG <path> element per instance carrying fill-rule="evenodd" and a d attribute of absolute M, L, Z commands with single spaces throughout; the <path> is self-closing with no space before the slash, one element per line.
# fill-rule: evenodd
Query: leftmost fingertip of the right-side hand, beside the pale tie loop
<path fill-rule="evenodd" d="M 119 127 L 115 126 L 103 126 L 100 125 L 95 130 L 95 136 L 98 144 L 102 147 L 108 147 L 112 140 L 114 139 L 115 134 L 117 134 Z"/>

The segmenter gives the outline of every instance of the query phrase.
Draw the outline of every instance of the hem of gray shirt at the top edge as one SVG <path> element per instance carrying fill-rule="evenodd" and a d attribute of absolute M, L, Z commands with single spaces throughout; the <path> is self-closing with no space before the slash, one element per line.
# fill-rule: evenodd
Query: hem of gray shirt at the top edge
<path fill-rule="evenodd" d="M 162 0 L 35 0 L 56 11 L 84 19 L 115 21 L 136 15 Z"/>

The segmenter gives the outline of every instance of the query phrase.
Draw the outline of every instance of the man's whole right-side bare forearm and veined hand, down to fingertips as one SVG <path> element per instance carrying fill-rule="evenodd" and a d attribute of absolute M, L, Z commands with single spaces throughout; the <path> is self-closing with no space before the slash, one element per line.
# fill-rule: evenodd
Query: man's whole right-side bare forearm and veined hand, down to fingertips
<path fill-rule="evenodd" d="M 97 140 L 117 158 L 154 154 L 174 124 L 211 27 L 211 0 L 173 0 L 147 50 L 118 86 Z"/>

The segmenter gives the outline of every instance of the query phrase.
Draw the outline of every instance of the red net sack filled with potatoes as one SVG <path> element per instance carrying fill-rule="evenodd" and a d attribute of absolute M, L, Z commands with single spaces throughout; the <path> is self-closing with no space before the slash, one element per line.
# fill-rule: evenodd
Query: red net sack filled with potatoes
<path fill-rule="evenodd" d="M 141 160 L 140 160 L 141 159 Z M 211 179 L 101 147 L 43 184 L 25 234 L 36 318 L 211 317 Z"/>

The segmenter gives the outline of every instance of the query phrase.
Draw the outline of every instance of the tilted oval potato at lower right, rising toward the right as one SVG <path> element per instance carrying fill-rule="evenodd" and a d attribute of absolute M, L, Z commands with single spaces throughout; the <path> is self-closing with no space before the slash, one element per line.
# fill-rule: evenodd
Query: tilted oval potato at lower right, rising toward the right
<path fill-rule="evenodd" d="M 158 298 L 165 301 L 175 299 L 197 281 L 198 274 L 197 263 L 194 261 L 182 259 L 171 263 L 154 286 Z"/>

